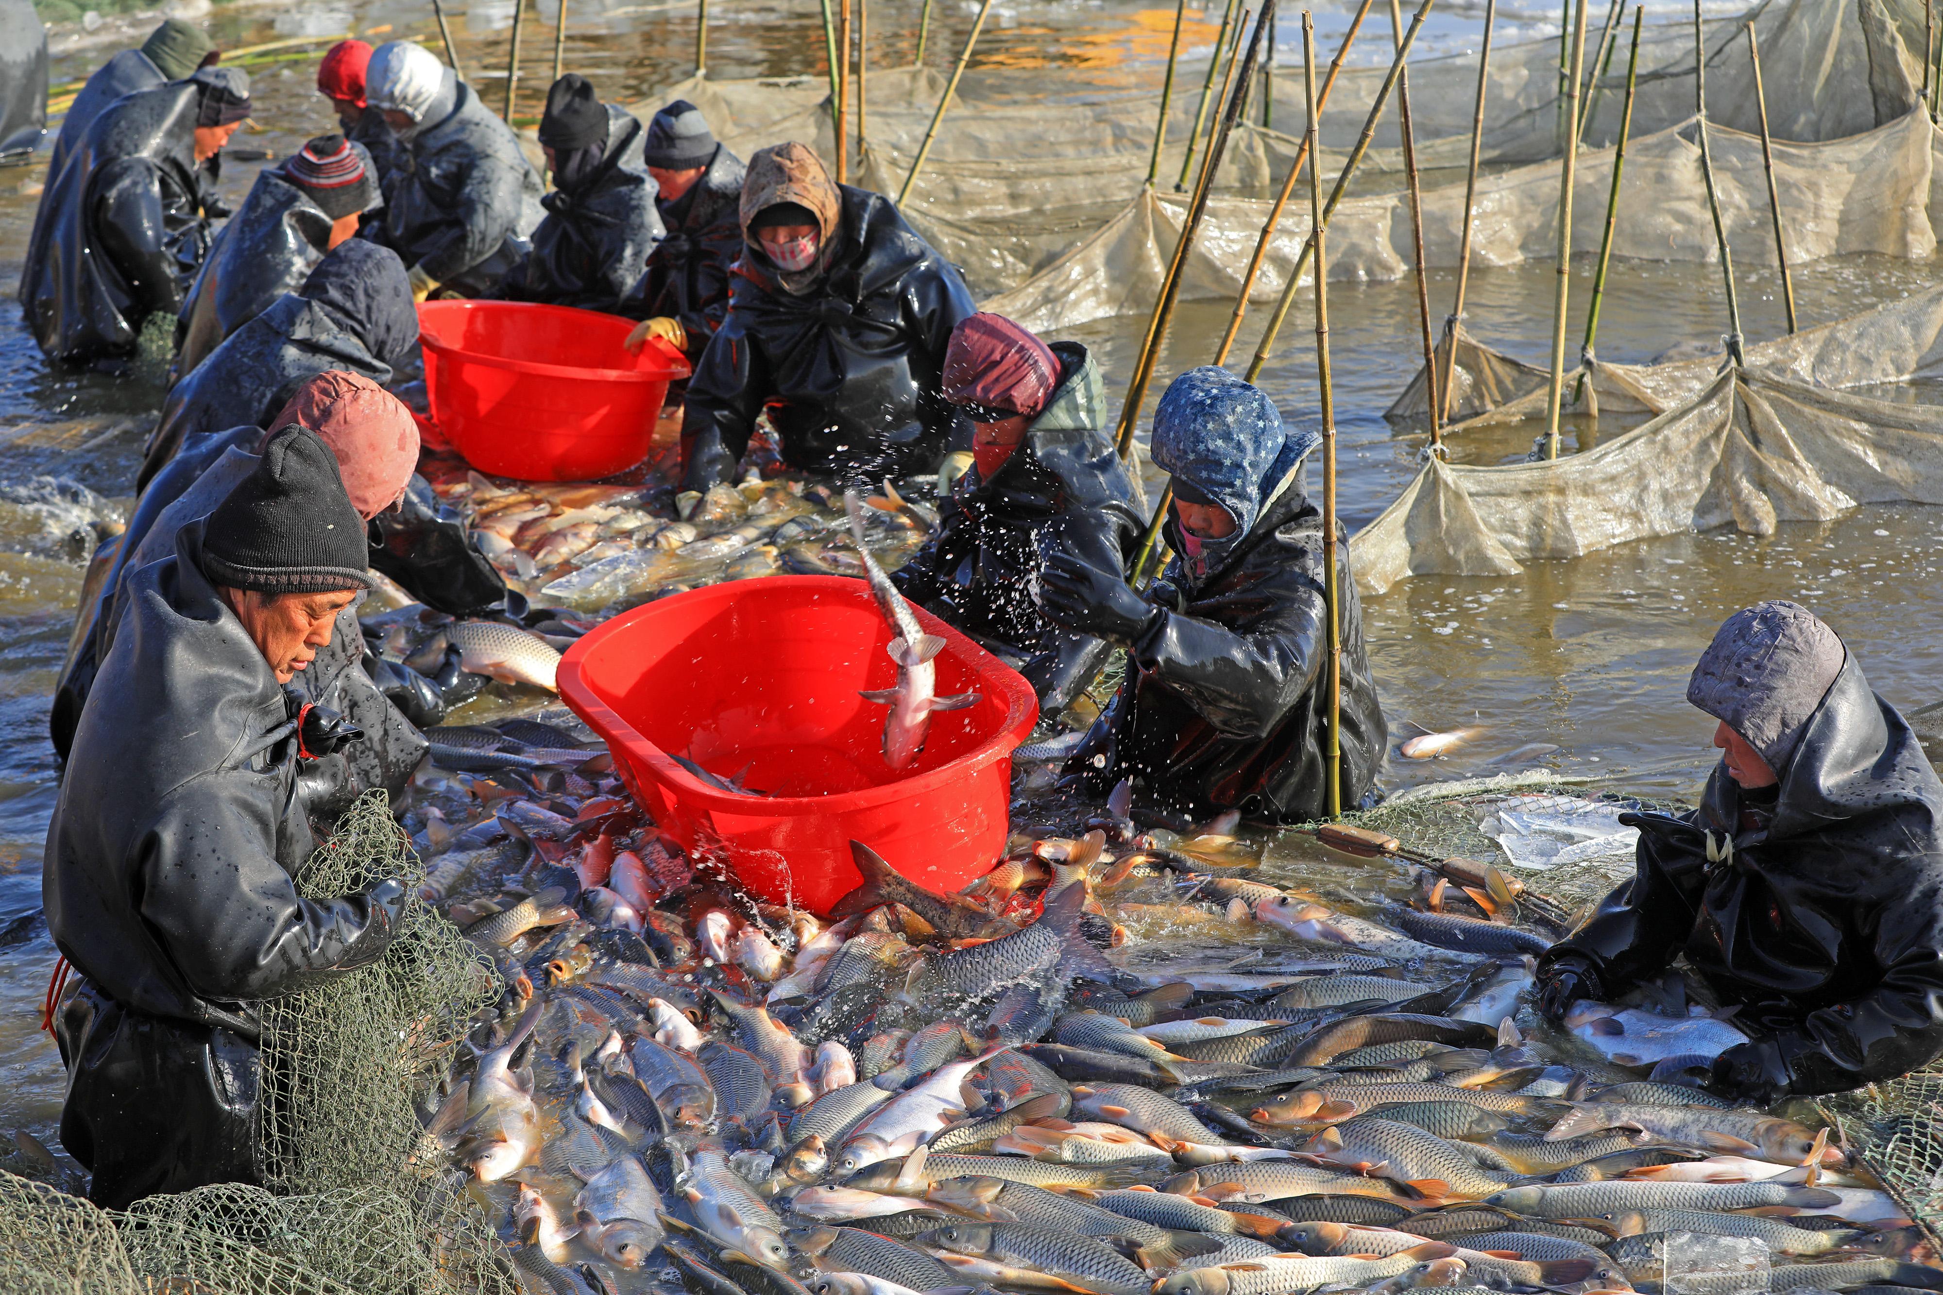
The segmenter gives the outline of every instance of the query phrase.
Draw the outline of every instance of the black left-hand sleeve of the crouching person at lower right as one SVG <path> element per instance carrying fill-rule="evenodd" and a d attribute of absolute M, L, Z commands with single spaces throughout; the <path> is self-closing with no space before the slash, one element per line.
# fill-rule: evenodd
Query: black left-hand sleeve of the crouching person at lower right
<path fill-rule="evenodd" d="M 1640 829 L 1632 880 L 1539 959 L 1539 975 L 1558 965 L 1589 969 L 1601 998 L 1622 994 L 1673 965 L 1706 891 L 1706 845 L 1698 827 L 1663 814 L 1626 814 L 1620 821 Z"/>

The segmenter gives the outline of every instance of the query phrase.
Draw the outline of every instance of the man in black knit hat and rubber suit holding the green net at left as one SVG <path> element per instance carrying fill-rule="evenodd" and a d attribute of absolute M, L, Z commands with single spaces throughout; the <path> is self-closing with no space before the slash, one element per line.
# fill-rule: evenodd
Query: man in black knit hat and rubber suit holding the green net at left
<path fill-rule="evenodd" d="M 251 1182 L 258 1004 L 375 961 L 400 881 L 299 899 L 293 782 L 342 724 L 284 687 L 367 588 L 363 520 L 315 433 L 130 586 L 47 829 L 47 924 L 78 982 L 58 1008 L 60 1142 L 89 1200 Z"/>

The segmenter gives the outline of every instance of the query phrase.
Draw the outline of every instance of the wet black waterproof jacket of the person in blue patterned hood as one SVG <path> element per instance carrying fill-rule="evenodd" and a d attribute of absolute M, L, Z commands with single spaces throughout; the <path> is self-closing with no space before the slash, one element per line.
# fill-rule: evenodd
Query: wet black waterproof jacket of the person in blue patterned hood
<path fill-rule="evenodd" d="M 1170 540 L 1177 544 L 1177 536 Z M 1222 810 L 1271 823 L 1323 817 L 1323 518 L 1300 481 L 1263 511 L 1199 588 L 1187 586 L 1179 559 L 1154 588 L 1162 617 L 1135 645 L 1127 681 L 1069 757 L 1067 773 L 1100 792 L 1133 777 L 1158 806 L 1185 817 Z M 1337 544 L 1337 588 L 1348 808 L 1376 786 L 1389 730 L 1370 678 L 1346 542 Z M 1096 755 L 1104 765 L 1094 765 Z"/>

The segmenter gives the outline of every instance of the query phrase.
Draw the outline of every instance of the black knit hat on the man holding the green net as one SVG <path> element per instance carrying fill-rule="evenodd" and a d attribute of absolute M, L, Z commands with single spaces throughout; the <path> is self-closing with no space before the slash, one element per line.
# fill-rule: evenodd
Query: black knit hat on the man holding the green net
<path fill-rule="evenodd" d="M 365 561 L 365 524 L 344 493 L 336 454 L 299 425 L 270 439 L 262 462 L 216 505 L 202 532 L 202 573 L 229 588 L 371 588 Z"/>

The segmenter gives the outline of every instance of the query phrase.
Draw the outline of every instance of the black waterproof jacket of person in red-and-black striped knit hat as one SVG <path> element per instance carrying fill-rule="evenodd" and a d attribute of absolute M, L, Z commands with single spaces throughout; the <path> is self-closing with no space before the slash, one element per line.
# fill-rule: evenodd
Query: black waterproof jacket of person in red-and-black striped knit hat
<path fill-rule="evenodd" d="M 330 247 L 330 217 L 274 167 L 256 175 L 202 262 L 175 324 L 175 377 L 295 291 Z"/>

